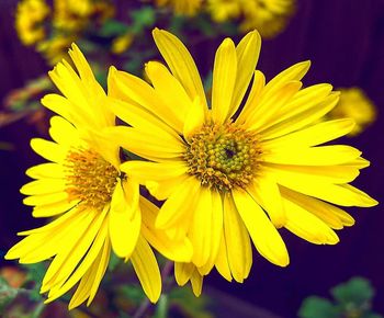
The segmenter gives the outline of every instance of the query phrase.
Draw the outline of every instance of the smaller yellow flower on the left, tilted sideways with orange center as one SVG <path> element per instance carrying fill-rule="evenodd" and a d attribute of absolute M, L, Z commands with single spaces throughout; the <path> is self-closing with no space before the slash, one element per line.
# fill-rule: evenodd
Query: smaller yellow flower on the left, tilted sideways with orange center
<path fill-rule="evenodd" d="M 155 229 L 158 208 L 140 197 L 136 181 L 120 170 L 120 148 L 106 139 L 114 125 L 109 98 L 94 79 L 76 45 L 69 52 L 78 73 L 63 60 L 49 76 L 63 95 L 42 103 L 60 116 L 50 121 L 54 141 L 35 138 L 32 148 L 50 162 L 30 168 L 35 181 L 21 192 L 33 216 L 57 216 L 48 225 L 20 232 L 26 236 L 5 255 L 21 263 L 53 258 L 42 284 L 49 303 L 79 283 L 69 308 L 92 302 L 106 270 L 111 248 L 131 260 L 151 302 L 160 295 L 161 279 L 148 241 L 170 259 L 189 261 L 187 240 L 170 240 Z"/>

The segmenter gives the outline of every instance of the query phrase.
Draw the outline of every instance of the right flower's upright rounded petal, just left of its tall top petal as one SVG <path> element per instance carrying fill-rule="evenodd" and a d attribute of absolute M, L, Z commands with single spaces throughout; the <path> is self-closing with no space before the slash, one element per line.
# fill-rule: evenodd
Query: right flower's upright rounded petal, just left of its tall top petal
<path fill-rule="evenodd" d="M 226 38 L 217 48 L 213 67 L 212 117 L 217 124 L 223 124 L 230 115 L 236 76 L 235 44 Z"/>

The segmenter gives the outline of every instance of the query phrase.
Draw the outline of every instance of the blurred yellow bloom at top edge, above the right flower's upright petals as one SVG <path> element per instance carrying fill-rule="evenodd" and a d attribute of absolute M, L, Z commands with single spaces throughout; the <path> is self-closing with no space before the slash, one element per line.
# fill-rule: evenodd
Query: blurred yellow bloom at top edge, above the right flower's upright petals
<path fill-rule="evenodd" d="M 240 30 L 257 29 L 264 37 L 273 37 L 293 14 L 295 0 L 208 0 L 207 10 L 215 21 L 240 19 Z"/>

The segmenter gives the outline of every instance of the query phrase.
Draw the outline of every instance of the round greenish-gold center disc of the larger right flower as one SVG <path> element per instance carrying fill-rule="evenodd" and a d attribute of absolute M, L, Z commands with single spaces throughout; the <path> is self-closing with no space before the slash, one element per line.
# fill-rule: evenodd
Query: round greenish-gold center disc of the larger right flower
<path fill-rule="evenodd" d="M 184 159 L 202 185 L 227 191 L 255 178 L 260 154 L 255 134 L 234 123 L 210 123 L 190 138 Z"/>

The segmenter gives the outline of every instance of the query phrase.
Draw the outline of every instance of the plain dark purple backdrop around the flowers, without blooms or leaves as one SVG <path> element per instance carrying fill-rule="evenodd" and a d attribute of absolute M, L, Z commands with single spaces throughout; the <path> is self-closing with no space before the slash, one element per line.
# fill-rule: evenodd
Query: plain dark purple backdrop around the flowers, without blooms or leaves
<path fill-rule="evenodd" d="M 19 44 L 13 30 L 15 1 L 0 0 L 0 98 L 48 68 L 32 49 Z M 217 44 L 217 43 L 216 43 Z M 212 66 L 215 47 L 191 48 L 203 72 Z M 383 201 L 384 188 L 384 1 L 301 0 L 287 30 L 264 41 L 258 68 L 270 79 L 294 63 L 310 59 L 305 84 L 330 82 L 337 87 L 362 87 L 379 107 L 379 120 L 362 136 L 343 139 L 372 161 L 354 184 Z M 15 242 L 15 231 L 41 225 L 22 205 L 20 186 L 24 170 L 39 162 L 29 148 L 37 132 L 26 123 L 0 129 L 0 140 L 15 144 L 12 152 L 0 152 L 0 249 Z M 384 214 L 381 205 L 349 208 L 357 224 L 340 231 L 337 246 L 313 246 L 282 231 L 291 264 L 280 269 L 255 252 L 253 268 L 245 284 L 229 284 L 216 274 L 206 282 L 283 317 L 295 317 L 301 300 L 310 294 L 326 296 L 328 289 L 354 275 L 370 279 L 377 291 L 375 308 L 384 313 Z"/>

